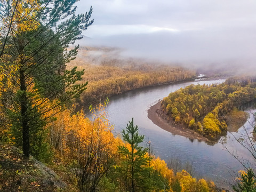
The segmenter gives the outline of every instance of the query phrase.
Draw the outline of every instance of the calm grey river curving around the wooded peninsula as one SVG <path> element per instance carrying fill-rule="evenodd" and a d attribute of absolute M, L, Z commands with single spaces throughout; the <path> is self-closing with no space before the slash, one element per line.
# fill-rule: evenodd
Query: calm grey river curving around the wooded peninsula
<path fill-rule="evenodd" d="M 225 150 L 221 141 L 225 141 L 224 145 L 230 151 L 238 151 L 237 153 L 244 158 L 250 158 L 247 151 L 235 141 L 232 133 L 228 132 L 227 137 L 222 137 L 218 143 L 211 146 L 205 142 L 191 140 L 162 130 L 148 119 L 147 114 L 150 106 L 181 87 L 190 84 L 210 85 L 222 82 L 225 82 L 225 79 L 165 84 L 129 91 L 111 97 L 106 110 L 108 111 L 110 122 L 115 125 L 114 134 L 121 133 L 122 129 L 125 129 L 126 124 L 133 117 L 134 124 L 139 127 L 139 133 L 145 135 L 145 145 L 149 139 L 156 156 L 161 157 L 166 162 L 174 158 L 179 159 L 182 164 L 189 162 L 194 167 L 197 178 L 206 178 L 214 181 L 218 186 L 230 188 L 229 183 L 233 183 L 233 171 L 237 172 L 242 170 L 243 167 Z M 253 121 L 252 115 L 249 121 Z M 246 123 L 245 127 L 246 129 L 251 129 L 249 123 Z M 239 131 L 241 130 L 243 130 L 243 127 L 239 129 Z M 236 137 L 237 134 L 234 133 Z"/>

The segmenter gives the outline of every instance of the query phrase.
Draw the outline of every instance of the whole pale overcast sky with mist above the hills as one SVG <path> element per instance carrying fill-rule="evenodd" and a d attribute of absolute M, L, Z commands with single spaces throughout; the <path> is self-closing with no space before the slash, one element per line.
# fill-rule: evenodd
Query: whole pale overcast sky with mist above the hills
<path fill-rule="evenodd" d="M 81 0 L 77 12 L 91 5 L 89 43 L 169 61 L 256 61 L 255 0 Z"/>

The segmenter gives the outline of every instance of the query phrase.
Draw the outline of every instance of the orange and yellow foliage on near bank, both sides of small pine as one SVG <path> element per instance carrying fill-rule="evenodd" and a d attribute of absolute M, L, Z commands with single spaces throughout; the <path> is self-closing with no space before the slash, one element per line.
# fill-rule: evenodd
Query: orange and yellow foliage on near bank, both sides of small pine
<path fill-rule="evenodd" d="M 103 105 L 91 109 L 90 116 L 90 119 L 86 118 L 83 111 L 74 113 L 70 109 L 54 116 L 55 121 L 46 126 L 54 156 L 66 167 L 68 182 L 75 184 L 81 191 L 94 191 L 95 188 L 100 191 L 125 191 L 125 182 L 129 180 L 125 179 L 125 175 L 129 173 L 124 172 L 126 168 L 123 162 L 129 156 L 119 153 L 118 146 L 129 151 L 132 150 L 131 146 L 114 137 L 113 125 L 109 123 Z M 149 154 L 145 157 L 150 160 L 142 165 L 150 171 L 145 180 L 151 185 L 147 191 L 176 191 L 172 190 L 175 185 L 180 186 L 180 191 L 214 189 L 213 183 L 196 180 L 186 171 L 175 175 L 159 157 L 149 158 Z"/>

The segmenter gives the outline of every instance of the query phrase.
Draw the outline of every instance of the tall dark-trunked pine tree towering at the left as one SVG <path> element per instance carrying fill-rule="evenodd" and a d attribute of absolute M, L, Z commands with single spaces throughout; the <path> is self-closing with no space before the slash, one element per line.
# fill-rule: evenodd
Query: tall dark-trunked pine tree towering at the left
<path fill-rule="evenodd" d="M 68 46 L 93 23 L 92 8 L 76 15 L 76 2 L 0 1 L 0 69 L 12 73 L 10 81 L 3 78 L 0 82 L 4 87 L 0 90 L 0 106 L 12 122 L 15 142 L 22 145 L 26 157 L 42 148 L 43 126 L 53 115 L 49 111 L 79 97 L 86 89 L 87 83 L 76 83 L 84 72 L 76 68 L 68 71 L 65 65 L 75 59 L 79 47 L 68 50 Z"/>

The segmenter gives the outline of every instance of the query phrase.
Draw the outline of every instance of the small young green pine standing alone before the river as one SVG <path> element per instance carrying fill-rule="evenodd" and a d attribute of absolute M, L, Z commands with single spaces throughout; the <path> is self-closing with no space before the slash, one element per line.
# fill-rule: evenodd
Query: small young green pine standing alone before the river
<path fill-rule="evenodd" d="M 118 146 L 118 153 L 124 157 L 120 167 L 121 175 L 125 175 L 125 190 L 129 191 L 149 191 L 151 188 L 150 172 L 152 167 L 148 166 L 151 157 L 147 156 L 147 148 L 140 145 L 144 135 L 139 135 L 138 126 L 132 121 L 127 124 L 126 130 L 122 131 L 123 140 L 130 145 Z"/>

